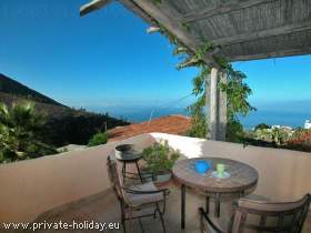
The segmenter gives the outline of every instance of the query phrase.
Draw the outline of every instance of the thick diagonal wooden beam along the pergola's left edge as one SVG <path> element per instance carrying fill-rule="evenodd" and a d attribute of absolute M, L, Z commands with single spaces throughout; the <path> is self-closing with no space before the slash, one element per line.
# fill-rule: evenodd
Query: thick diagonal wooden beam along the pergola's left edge
<path fill-rule="evenodd" d="M 178 20 L 175 20 L 178 18 L 177 14 L 172 12 L 171 8 L 165 8 L 164 1 L 160 6 L 152 3 L 152 1 L 146 0 L 121 0 L 121 2 L 126 3 L 127 6 L 131 6 L 131 9 L 134 12 L 137 9 L 140 9 L 139 11 L 144 11 L 148 16 L 156 19 L 171 33 L 173 33 L 182 43 L 184 43 L 184 45 L 187 45 L 192 52 L 195 52 L 201 45 L 190 32 L 181 29 L 181 24 L 178 22 Z M 167 10 L 170 10 L 170 12 L 165 12 Z M 220 69 L 219 64 L 211 54 L 207 54 L 203 58 L 203 61 L 211 67 Z"/>

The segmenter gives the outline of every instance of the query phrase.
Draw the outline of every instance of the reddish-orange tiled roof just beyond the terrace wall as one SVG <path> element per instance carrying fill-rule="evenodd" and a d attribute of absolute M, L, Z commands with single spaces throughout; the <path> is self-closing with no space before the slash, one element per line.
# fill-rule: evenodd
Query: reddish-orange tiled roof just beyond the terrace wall
<path fill-rule="evenodd" d="M 108 131 L 109 141 L 120 141 L 142 133 L 184 134 L 191 125 L 191 119 L 184 115 L 168 115 L 139 124 L 119 126 Z"/>

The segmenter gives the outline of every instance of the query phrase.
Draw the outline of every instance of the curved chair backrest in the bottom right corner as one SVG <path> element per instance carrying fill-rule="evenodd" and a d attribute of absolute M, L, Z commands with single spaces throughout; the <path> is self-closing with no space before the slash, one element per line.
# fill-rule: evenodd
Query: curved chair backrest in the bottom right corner
<path fill-rule="evenodd" d="M 287 203 L 241 199 L 231 233 L 300 233 L 310 206 L 310 194 Z"/>

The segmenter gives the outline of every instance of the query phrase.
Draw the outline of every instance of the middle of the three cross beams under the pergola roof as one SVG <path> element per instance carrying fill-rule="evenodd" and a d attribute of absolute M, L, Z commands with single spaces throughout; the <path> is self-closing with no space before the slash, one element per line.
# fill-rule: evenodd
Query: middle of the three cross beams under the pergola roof
<path fill-rule="evenodd" d="M 262 31 L 255 31 L 255 32 L 248 32 L 238 34 L 235 37 L 228 37 L 228 38 L 220 38 L 215 40 L 211 40 L 211 42 L 215 45 L 228 45 L 233 43 L 243 43 L 248 41 L 258 40 L 261 38 L 269 38 L 269 37 L 275 37 L 275 36 L 283 36 L 283 34 L 291 34 L 300 31 L 307 31 L 311 30 L 311 21 L 304 21 L 300 23 L 293 23 L 293 24 L 287 24 L 282 27 L 275 27 Z"/>

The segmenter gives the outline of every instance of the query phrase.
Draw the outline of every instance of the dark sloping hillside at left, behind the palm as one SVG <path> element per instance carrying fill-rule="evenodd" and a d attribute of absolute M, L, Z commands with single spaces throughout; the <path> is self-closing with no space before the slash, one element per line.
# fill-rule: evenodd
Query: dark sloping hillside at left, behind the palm
<path fill-rule="evenodd" d="M 47 115 L 47 123 L 42 129 L 42 140 L 54 146 L 87 144 L 89 139 L 99 131 L 129 124 L 108 114 L 68 108 L 0 74 L 0 103 L 11 105 L 13 102 L 22 101 L 34 102 L 37 111 Z"/>

